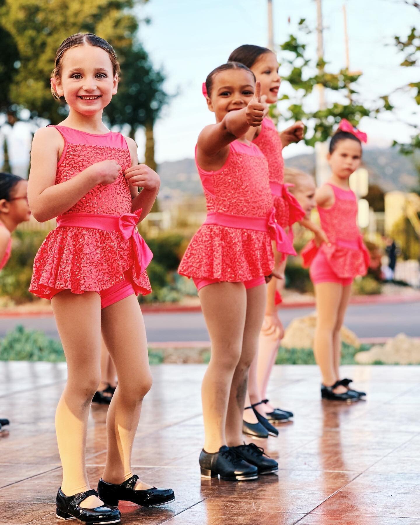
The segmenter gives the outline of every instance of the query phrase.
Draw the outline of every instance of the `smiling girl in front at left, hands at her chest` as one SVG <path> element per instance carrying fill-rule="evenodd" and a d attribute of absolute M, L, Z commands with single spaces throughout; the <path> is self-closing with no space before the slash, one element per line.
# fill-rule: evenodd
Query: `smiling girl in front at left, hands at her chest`
<path fill-rule="evenodd" d="M 138 165 L 133 140 L 102 123 L 118 74 L 106 40 L 79 33 L 62 42 L 51 90 L 65 98 L 69 115 L 35 133 L 28 188 L 35 218 L 57 217 L 57 228 L 35 257 L 30 285 L 35 295 L 51 300 L 68 367 L 56 412 L 63 468 L 57 517 L 83 523 L 119 522 L 119 500 L 154 506 L 174 499 L 171 489 L 139 481 L 130 464 L 142 400 L 152 383 L 135 297 L 151 290 L 145 268 L 152 255 L 136 225 L 152 207 L 159 176 Z M 98 497 L 90 490 L 85 456 L 89 407 L 100 381 L 101 330 L 118 388 L 108 410 Z"/>

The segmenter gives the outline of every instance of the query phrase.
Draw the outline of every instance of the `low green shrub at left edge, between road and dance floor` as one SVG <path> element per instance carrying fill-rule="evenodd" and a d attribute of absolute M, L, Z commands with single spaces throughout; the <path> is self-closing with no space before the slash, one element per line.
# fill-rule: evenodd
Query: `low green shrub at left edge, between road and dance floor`
<path fill-rule="evenodd" d="M 61 343 L 19 325 L 0 341 L 0 361 L 65 361 Z"/>

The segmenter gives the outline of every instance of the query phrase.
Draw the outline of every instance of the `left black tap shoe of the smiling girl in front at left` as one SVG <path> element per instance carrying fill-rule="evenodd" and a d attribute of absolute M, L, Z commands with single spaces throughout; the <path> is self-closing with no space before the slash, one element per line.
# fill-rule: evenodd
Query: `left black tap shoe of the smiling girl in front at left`
<path fill-rule="evenodd" d="M 58 489 L 56 498 L 56 516 L 60 520 L 77 519 L 80 523 L 86 525 L 100 525 L 101 523 L 119 523 L 121 513 L 118 509 L 113 509 L 109 505 L 101 505 L 95 509 L 85 509 L 80 507 L 80 503 L 89 496 L 98 496 L 96 490 L 87 490 L 79 492 L 74 496 L 66 496 Z"/>

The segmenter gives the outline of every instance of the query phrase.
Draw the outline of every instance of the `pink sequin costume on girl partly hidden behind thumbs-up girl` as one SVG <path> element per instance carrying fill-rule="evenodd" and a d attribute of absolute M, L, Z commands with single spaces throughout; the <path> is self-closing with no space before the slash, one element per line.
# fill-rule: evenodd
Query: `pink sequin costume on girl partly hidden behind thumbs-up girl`
<path fill-rule="evenodd" d="M 285 163 L 279 133 L 274 122 L 266 117 L 261 124 L 261 131 L 253 141 L 264 153 L 268 161 L 270 188 L 274 197 L 276 219 L 281 227 L 286 228 L 303 219 L 305 212 L 296 197 L 287 191 L 284 183 Z"/>

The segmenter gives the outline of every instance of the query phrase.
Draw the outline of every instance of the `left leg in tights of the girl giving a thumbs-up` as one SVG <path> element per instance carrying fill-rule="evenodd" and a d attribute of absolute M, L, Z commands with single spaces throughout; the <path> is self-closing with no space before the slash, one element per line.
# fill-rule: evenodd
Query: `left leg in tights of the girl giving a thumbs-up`
<path fill-rule="evenodd" d="M 243 283 L 218 282 L 203 287 L 198 296 L 212 341 L 212 356 L 201 389 L 204 450 L 214 453 L 227 443 L 227 405 L 232 379 L 241 355 L 247 294 Z"/>

